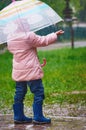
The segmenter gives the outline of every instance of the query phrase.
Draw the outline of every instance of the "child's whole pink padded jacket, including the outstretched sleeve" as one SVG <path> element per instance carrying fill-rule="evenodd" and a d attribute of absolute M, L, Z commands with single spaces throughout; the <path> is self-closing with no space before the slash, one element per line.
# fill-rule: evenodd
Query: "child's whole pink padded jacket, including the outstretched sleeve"
<path fill-rule="evenodd" d="M 19 34 L 20 35 L 20 34 Z M 16 35 L 17 36 L 17 35 Z M 38 36 L 33 32 L 8 42 L 8 50 L 13 54 L 12 78 L 15 81 L 30 81 L 43 77 L 37 56 L 37 47 L 47 46 L 57 40 L 55 33 Z"/>

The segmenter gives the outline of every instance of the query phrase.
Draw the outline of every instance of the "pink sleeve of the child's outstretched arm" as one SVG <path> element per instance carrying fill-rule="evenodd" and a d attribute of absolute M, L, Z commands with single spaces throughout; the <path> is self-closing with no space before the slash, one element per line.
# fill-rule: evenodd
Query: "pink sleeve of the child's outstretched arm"
<path fill-rule="evenodd" d="M 44 47 L 53 44 L 57 40 L 57 35 L 55 33 L 51 33 L 46 36 L 39 36 L 36 35 L 35 33 L 32 33 L 30 39 L 32 39 L 31 46 Z"/>

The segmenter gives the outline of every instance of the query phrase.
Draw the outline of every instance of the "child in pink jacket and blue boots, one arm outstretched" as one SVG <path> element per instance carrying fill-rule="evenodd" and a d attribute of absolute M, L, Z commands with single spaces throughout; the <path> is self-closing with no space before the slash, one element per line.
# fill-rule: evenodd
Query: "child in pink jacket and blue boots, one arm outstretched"
<path fill-rule="evenodd" d="M 8 50 L 13 54 L 12 78 L 16 82 L 13 104 L 14 123 L 51 123 L 51 119 L 45 118 L 42 111 L 45 96 L 42 84 L 43 71 L 37 56 L 37 48 L 53 44 L 57 36 L 64 31 L 59 30 L 46 36 L 39 36 L 29 31 L 25 21 L 22 22 L 23 26 L 17 23 L 16 33 L 8 36 L 7 44 Z M 27 86 L 34 94 L 33 118 L 24 115 L 23 101 Z"/>

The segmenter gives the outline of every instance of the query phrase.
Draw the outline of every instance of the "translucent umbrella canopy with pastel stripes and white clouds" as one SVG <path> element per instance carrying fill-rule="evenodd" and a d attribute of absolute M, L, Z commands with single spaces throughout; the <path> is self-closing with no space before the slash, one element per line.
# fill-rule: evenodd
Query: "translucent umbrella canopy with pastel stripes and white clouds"
<path fill-rule="evenodd" d="M 8 41 L 8 35 L 16 34 L 18 26 L 22 27 L 26 35 L 28 31 L 36 32 L 60 21 L 62 18 L 39 0 L 13 0 L 0 11 L 0 44 Z"/>

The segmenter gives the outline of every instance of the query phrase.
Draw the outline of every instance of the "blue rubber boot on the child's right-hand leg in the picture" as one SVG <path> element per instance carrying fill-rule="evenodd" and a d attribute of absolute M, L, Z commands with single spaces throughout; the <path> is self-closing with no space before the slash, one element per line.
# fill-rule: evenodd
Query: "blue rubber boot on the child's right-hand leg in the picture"
<path fill-rule="evenodd" d="M 33 104 L 33 123 L 34 124 L 48 124 L 51 123 L 50 118 L 45 118 L 42 112 L 42 104 Z"/>

